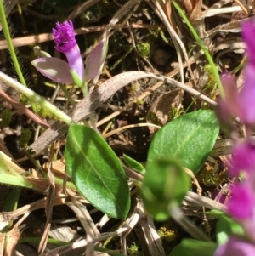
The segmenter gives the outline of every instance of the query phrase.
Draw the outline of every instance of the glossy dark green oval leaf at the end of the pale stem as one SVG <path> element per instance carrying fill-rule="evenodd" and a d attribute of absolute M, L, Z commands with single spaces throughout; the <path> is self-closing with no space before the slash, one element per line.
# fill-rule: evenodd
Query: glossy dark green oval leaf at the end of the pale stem
<path fill-rule="evenodd" d="M 92 128 L 72 124 L 65 160 L 67 172 L 82 196 L 103 213 L 126 218 L 130 208 L 126 175 L 105 139 Z"/>

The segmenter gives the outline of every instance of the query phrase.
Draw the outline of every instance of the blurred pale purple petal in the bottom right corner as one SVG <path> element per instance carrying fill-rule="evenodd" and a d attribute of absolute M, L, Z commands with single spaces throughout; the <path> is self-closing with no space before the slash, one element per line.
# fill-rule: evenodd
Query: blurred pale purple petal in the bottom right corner
<path fill-rule="evenodd" d="M 238 237 L 230 237 L 229 241 L 217 247 L 213 256 L 253 256 L 255 246 L 252 243 L 242 241 Z"/>

